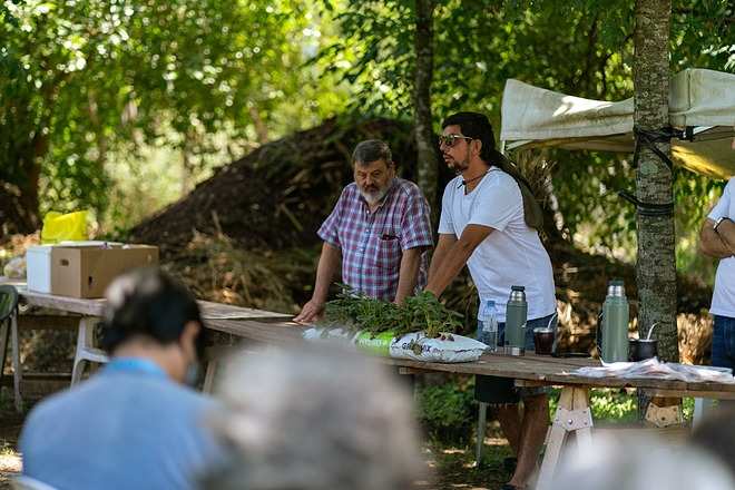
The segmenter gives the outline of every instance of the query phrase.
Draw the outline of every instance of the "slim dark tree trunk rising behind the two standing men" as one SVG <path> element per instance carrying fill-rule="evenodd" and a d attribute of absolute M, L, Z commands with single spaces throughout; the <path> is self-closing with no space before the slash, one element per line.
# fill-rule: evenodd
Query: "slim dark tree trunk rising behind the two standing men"
<path fill-rule="evenodd" d="M 432 223 L 438 222 L 437 186 L 439 184 L 439 155 L 431 119 L 431 79 L 434 69 L 433 53 L 433 0 L 416 0 L 416 32 L 414 47 L 416 65 L 414 74 L 414 122 L 418 149 L 418 179 L 429 206 Z"/>

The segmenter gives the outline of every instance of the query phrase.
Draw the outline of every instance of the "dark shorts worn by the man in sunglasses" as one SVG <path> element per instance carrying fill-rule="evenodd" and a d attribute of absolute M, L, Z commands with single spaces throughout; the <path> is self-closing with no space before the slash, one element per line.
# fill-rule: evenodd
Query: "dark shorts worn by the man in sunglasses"
<path fill-rule="evenodd" d="M 553 321 L 549 325 L 549 321 Z M 553 314 L 526 322 L 526 350 L 533 351 L 533 329 L 551 326 L 557 330 L 557 318 Z M 498 324 L 498 344 L 502 345 L 506 339 L 506 324 Z M 476 376 L 474 399 L 491 405 L 506 405 L 518 403 L 521 399 L 549 393 L 549 386 L 516 386 L 516 380 L 501 376 Z"/>

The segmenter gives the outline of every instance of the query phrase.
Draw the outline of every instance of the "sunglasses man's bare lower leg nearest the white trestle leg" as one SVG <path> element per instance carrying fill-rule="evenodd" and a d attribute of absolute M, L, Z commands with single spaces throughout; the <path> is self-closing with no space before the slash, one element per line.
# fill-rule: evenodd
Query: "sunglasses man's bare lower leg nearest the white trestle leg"
<path fill-rule="evenodd" d="M 546 394 L 528 396 L 523 400 L 523 420 L 518 451 L 518 465 L 510 484 L 526 487 L 533 474 L 536 462 L 549 428 L 549 396 Z"/>

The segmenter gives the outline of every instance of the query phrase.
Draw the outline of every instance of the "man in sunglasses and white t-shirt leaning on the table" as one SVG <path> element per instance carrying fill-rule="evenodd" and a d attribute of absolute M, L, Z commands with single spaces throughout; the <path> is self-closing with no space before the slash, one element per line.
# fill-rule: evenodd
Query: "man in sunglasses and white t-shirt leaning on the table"
<path fill-rule="evenodd" d="M 427 291 L 441 295 L 467 264 L 480 304 L 493 300 L 497 305 L 502 340 L 510 288 L 525 286 L 526 349 L 533 349 L 533 327 L 556 327 L 551 261 L 538 235 L 541 208 L 513 164 L 494 149 L 492 126 L 486 116 L 459 112 L 447 118 L 442 127 L 444 161 L 459 175 L 444 189 Z M 516 389 L 513 380 L 477 376 L 476 396 L 494 408 L 518 457 L 514 474 L 503 488 L 525 488 L 549 424 L 546 390 Z"/>

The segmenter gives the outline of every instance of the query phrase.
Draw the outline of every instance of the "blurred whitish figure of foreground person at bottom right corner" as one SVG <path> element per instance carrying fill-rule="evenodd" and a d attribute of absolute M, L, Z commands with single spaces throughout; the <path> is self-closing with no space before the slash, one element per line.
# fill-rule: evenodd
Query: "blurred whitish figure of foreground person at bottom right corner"
<path fill-rule="evenodd" d="M 551 490 L 732 490 L 719 461 L 689 445 L 646 435 L 595 437 L 594 449 L 572 449 Z"/>

